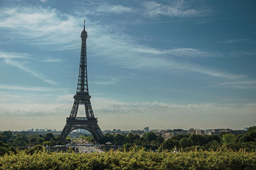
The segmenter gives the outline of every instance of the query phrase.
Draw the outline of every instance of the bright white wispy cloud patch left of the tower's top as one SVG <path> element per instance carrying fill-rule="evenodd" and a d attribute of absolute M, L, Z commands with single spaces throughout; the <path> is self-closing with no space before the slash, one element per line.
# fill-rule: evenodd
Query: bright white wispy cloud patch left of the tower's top
<path fill-rule="evenodd" d="M 55 9 L 0 8 L 0 28 L 8 31 L 3 36 L 31 45 L 54 45 L 52 50 L 79 49 L 79 23 L 81 20 Z"/>

